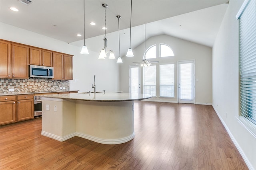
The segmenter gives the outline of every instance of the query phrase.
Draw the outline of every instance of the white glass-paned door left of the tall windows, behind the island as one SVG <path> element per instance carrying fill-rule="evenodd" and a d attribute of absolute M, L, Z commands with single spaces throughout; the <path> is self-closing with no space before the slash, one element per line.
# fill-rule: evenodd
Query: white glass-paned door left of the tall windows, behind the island
<path fill-rule="evenodd" d="M 140 65 L 130 66 L 129 68 L 129 92 L 140 94 Z"/>

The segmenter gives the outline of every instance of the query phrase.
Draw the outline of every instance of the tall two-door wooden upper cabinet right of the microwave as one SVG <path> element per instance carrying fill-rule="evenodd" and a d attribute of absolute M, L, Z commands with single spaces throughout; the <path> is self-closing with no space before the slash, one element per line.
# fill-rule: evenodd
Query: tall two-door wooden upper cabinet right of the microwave
<path fill-rule="evenodd" d="M 72 80 L 72 55 L 53 53 L 54 79 Z"/>

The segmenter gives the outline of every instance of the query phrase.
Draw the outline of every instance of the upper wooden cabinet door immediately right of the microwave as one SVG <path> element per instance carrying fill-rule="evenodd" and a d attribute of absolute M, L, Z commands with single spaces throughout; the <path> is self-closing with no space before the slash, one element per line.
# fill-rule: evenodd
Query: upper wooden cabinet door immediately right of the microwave
<path fill-rule="evenodd" d="M 63 72 L 63 55 L 59 53 L 53 53 L 53 68 L 54 68 L 54 79 L 64 79 Z"/>

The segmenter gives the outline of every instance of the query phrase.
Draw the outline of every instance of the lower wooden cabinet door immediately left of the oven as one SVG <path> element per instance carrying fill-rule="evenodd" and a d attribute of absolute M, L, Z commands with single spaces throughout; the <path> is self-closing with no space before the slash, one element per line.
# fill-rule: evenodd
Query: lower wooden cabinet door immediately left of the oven
<path fill-rule="evenodd" d="M 17 121 L 34 118 L 34 100 L 18 100 Z"/>

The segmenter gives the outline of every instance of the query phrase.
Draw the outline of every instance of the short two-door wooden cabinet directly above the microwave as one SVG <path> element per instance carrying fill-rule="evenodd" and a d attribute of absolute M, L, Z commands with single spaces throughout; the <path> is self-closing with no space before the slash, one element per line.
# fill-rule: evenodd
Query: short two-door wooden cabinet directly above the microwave
<path fill-rule="evenodd" d="M 52 67 L 52 51 L 30 47 L 30 64 Z"/>

